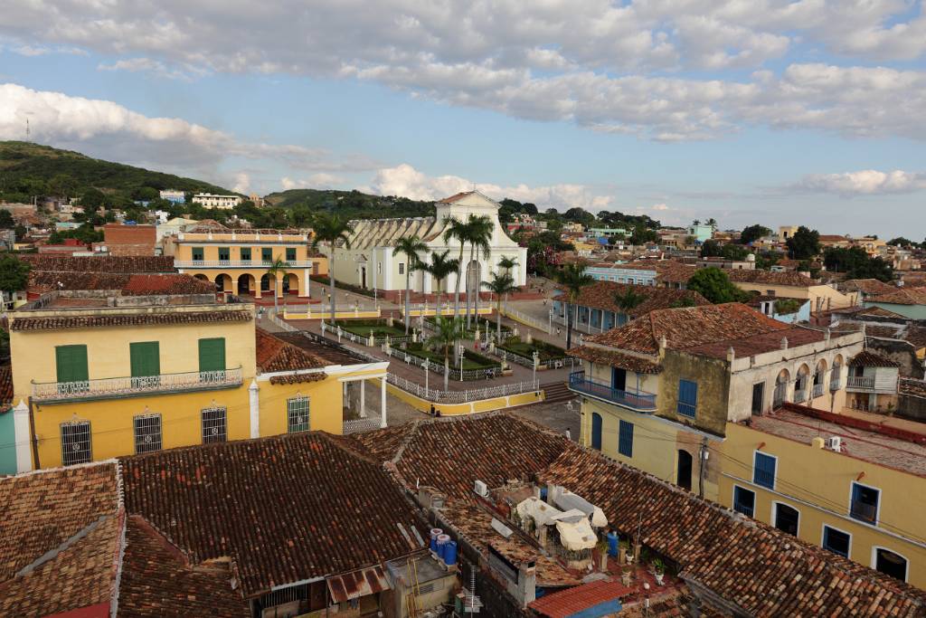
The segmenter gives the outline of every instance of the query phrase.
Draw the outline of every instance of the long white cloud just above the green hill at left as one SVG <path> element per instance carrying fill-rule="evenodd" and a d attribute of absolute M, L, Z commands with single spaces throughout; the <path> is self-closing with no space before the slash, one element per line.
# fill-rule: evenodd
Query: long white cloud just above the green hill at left
<path fill-rule="evenodd" d="M 267 159 L 297 170 L 372 170 L 363 156 L 240 140 L 179 118 L 151 118 L 112 101 L 0 84 L 0 139 L 21 139 L 26 119 L 36 142 L 190 175 L 214 173 L 228 158 Z M 240 179 L 236 179 L 239 182 Z"/>

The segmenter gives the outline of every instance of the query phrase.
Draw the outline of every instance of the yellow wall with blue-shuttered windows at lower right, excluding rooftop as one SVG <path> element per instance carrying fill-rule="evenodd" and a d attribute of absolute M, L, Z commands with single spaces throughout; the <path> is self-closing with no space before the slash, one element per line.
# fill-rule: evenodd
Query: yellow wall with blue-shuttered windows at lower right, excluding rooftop
<path fill-rule="evenodd" d="M 754 453 L 763 442 L 761 452 L 778 458 L 775 491 L 751 482 Z M 755 518 L 773 524 L 773 501 L 785 502 L 800 511 L 797 534 L 808 543 L 820 545 L 823 524 L 832 525 L 852 535 L 852 560 L 872 566 L 872 548 L 889 549 L 907 559 L 907 581 L 926 587 L 926 548 L 889 534 L 917 536 L 926 544 L 926 479 L 733 423 L 722 450 L 721 504 L 732 507 L 733 486 L 743 486 L 756 492 Z M 882 492 L 877 527 L 848 517 L 851 485 L 860 473 L 865 476 L 859 483 Z"/>

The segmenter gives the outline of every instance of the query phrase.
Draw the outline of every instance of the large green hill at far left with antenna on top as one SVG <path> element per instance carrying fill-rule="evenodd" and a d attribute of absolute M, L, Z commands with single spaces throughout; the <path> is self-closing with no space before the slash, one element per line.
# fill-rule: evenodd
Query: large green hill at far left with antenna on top
<path fill-rule="evenodd" d="M 193 178 L 90 158 L 71 150 L 0 142 L 0 199 L 30 202 L 33 195 L 82 195 L 92 188 L 113 195 L 117 203 L 148 198 L 151 189 L 231 193 Z"/>

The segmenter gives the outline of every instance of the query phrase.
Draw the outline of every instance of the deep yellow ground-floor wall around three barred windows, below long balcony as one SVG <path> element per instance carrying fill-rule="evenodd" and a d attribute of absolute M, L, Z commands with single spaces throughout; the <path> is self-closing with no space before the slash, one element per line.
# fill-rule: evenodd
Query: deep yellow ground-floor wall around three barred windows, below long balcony
<path fill-rule="evenodd" d="M 200 410 L 212 407 L 226 408 L 229 440 L 250 436 L 247 383 L 228 390 L 34 404 L 39 465 L 61 465 L 61 423 L 90 421 L 93 458 L 106 460 L 135 454 L 133 417 L 141 414 L 161 415 L 162 448 L 202 444 Z"/>

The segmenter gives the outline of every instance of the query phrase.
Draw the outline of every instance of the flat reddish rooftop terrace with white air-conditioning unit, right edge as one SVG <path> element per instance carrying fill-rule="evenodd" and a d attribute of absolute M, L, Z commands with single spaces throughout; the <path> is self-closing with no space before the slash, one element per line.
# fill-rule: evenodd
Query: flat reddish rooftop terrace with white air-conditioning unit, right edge
<path fill-rule="evenodd" d="M 815 437 L 839 436 L 843 438 L 841 454 L 846 457 L 926 477 L 926 435 L 793 404 L 753 416 L 750 426 L 807 447 Z"/>

